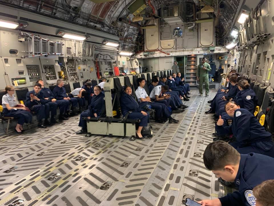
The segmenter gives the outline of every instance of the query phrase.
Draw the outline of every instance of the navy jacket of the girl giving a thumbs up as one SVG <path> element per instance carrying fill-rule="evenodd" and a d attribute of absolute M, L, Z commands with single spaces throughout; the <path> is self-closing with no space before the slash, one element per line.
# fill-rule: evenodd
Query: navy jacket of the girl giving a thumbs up
<path fill-rule="evenodd" d="M 255 144 L 254 146 L 261 147 L 263 145 L 261 145 L 261 143 L 257 145 L 256 142 L 272 141 L 271 134 L 267 132 L 257 118 L 246 109 L 235 110 L 233 122 L 230 126 L 217 126 L 218 133 L 224 132 L 223 129 L 225 129 L 228 134 L 232 132 L 236 141 L 242 146 Z M 267 145 L 263 147 L 267 147 Z"/>

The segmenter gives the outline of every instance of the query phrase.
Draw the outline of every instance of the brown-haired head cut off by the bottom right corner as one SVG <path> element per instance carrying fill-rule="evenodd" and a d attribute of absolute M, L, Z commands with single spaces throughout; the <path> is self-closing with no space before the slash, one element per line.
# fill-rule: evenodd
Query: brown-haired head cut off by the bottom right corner
<path fill-rule="evenodd" d="M 274 179 L 266 180 L 253 188 L 256 206 L 271 206 L 274 200 Z"/>

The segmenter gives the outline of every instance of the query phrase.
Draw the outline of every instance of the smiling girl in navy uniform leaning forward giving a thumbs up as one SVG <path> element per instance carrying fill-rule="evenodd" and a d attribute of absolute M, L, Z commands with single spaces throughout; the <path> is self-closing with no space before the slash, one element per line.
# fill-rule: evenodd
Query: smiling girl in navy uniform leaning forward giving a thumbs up
<path fill-rule="evenodd" d="M 225 104 L 226 113 L 233 118 L 230 126 L 222 127 L 224 120 L 221 116 L 217 121 L 218 132 L 233 134 L 236 142 L 230 143 L 241 154 L 255 152 L 274 157 L 272 135 L 265 130 L 257 118 L 246 109 L 241 109 L 236 102 Z"/>

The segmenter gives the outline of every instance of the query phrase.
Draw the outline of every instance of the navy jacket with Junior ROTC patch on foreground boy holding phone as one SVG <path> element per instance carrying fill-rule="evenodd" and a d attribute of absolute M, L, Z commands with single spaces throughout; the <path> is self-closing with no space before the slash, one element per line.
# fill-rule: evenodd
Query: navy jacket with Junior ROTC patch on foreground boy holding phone
<path fill-rule="evenodd" d="M 253 188 L 263 181 L 274 179 L 274 158 L 261 154 L 241 155 L 239 170 L 234 180 L 239 191 L 219 198 L 222 206 L 256 204 Z"/>

